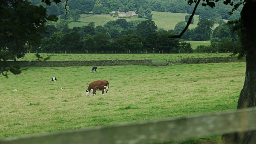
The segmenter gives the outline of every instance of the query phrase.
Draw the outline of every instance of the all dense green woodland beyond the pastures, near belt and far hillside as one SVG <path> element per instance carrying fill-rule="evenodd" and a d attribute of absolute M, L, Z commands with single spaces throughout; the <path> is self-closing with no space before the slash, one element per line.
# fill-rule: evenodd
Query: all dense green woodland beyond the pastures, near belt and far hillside
<path fill-rule="evenodd" d="M 38 0 L 30 0 L 34 5 L 42 5 Z M 179 34 L 186 26 L 194 6 L 186 4 L 186 1 L 170 0 L 72 0 L 52 3 L 46 6 L 48 15 L 60 16 L 62 21 L 58 23 L 48 22 L 47 33 L 42 34 L 43 39 L 38 46 L 28 48 L 32 52 L 46 53 L 141 53 L 141 52 L 164 52 L 164 53 L 189 53 L 189 52 L 232 52 L 238 49 L 240 42 L 238 34 L 232 31 L 232 25 L 225 24 L 223 19 L 237 20 L 240 10 L 228 12 L 230 6 L 219 4 L 214 8 L 200 6 L 196 10 L 199 22 L 196 28 L 188 29 L 181 39 L 170 38 Z M 216 3 L 218 4 L 218 3 Z M 68 28 L 66 19 L 77 21 L 80 14 L 110 14 L 110 11 L 128 12 L 130 10 L 151 12 L 174 12 L 187 13 L 183 22 L 178 22 L 174 30 L 158 28 L 150 16 L 149 20 L 125 19 L 109 21 L 103 26 L 95 26 L 90 22 L 87 26 Z M 66 15 L 66 12 L 68 14 Z M 214 30 L 214 24 L 219 26 Z M 192 50 L 190 43 L 185 41 L 211 40 L 210 46 L 198 46 Z M 182 42 L 180 42 L 182 41 Z"/>

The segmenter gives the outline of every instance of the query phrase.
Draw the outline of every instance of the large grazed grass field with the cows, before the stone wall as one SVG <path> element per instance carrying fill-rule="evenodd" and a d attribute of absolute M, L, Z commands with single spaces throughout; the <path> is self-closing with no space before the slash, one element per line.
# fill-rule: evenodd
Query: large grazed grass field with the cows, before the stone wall
<path fill-rule="evenodd" d="M 90 66 L 30 67 L 0 76 L 0 139 L 235 110 L 245 66 L 100 66 L 96 74 Z M 94 80 L 109 81 L 108 95 L 85 95 Z"/>

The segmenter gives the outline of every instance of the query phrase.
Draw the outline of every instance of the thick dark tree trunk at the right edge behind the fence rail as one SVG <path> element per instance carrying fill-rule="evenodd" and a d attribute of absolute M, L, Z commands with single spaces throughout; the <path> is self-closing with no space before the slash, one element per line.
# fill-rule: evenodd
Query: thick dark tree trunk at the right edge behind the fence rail
<path fill-rule="evenodd" d="M 241 12 L 244 28 L 243 46 L 246 54 L 244 87 L 237 109 L 256 105 L 256 1 L 248 0 Z M 256 131 L 223 134 L 224 144 L 256 144 Z"/>

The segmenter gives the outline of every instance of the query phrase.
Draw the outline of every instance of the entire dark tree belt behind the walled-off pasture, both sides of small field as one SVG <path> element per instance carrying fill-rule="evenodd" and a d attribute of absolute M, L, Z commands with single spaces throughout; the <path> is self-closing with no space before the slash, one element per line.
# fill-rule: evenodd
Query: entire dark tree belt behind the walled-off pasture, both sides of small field
<path fill-rule="evenodd" d="M 47 33 L 38 46 L 30 47 L 33 52 L 46 53 L 191 53 L 191 52 L 232 52 L 239 46 L 238 34 L 232 33 L 232 26 L 224 24 L 212 31 L 212 20 L 202 19 L 198 26 L 188 29 L 183 39 L 170 38 L 185 27 L 177 24 L 174 30 L 157 28 L 152 20 L 125 19 L 109 21 L 104 26 L 68 28 L 68 22 L 48 23 Z M 180 41 L 211 40 L 210 46 L 199 46 L 192 50 L 190 43 Z M 237 43 L 236 43 L 237 42 Z"/>

